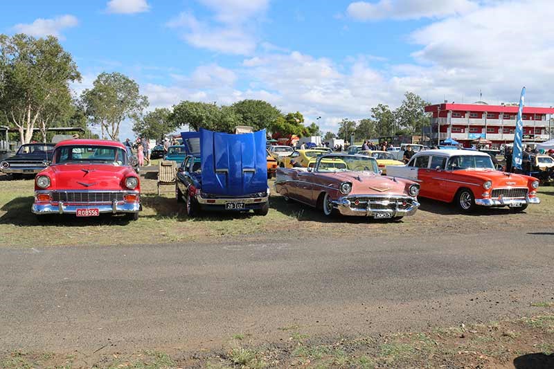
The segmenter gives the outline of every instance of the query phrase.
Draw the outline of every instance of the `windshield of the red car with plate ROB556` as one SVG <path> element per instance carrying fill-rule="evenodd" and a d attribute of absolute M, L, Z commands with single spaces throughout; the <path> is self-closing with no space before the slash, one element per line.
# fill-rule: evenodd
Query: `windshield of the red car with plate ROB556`
<path fill-rule="evenodd" d="M 55 164 L 84 162 L 126 165 L 127 154 L 120 147 L 104 145 L 66 145 L 54 152 Z"/>

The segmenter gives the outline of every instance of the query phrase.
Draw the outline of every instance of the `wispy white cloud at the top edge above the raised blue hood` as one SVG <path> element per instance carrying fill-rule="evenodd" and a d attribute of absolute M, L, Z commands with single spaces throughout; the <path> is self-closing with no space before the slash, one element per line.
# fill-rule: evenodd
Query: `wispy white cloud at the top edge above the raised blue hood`
<path fill-rule="evenodd" d="M 213 10 L 213 19 L 197 19 L 190 12 L 168 21 L 188 44 L 225 54 L 251 55 L 258 44 L 254 18 L 265 12 L 267 0 L 200 0 Z"/>

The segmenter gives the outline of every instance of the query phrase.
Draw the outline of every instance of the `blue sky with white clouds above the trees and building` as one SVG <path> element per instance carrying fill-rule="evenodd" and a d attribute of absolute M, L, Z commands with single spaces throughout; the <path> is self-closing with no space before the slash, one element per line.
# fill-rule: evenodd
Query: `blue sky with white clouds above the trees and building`
<path fill-rule="evenodd" d="M 431 102 L 552 105 L 554 4 L 547 0 L 5 1 L 0 32 L 60 37 L 83 75 L 134 78 L 154 107 L 260 98 L 324 130 Z M 130 125 L 122 136 L 131 136 Z"/>

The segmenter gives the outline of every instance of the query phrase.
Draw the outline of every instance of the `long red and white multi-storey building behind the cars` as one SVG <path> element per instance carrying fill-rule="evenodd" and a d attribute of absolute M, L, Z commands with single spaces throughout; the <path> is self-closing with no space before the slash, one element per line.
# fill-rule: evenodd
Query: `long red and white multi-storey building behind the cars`
<path fill-rule="evenodd" d="M 492 141 L 493 147 L 503 143 L 513 143 L 517 120 L 517 105 L 488 105 L 486 102 L 474 104 L 429 105 L 425 111 L 432 113 L 431 138 L 442 142 L 453 138 L 470 147 L 471 141 L 479 137 Z M 552 107 L 524 107 L 524 142 L 547 141 L 550 132 Z"/>

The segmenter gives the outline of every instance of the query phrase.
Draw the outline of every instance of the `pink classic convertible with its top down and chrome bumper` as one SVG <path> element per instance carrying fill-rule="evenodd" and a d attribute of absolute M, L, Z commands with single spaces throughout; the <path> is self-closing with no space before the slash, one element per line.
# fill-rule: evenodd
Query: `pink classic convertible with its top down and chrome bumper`
<path fill-rule="evenodd" d="M 278 168 L 275 188 L 325 215 L 400 219 L 420 206 L 418 183 L 383 177 L 377 161 L 362 155 L 326 154 L 314 168 Z"/>

